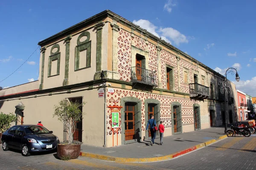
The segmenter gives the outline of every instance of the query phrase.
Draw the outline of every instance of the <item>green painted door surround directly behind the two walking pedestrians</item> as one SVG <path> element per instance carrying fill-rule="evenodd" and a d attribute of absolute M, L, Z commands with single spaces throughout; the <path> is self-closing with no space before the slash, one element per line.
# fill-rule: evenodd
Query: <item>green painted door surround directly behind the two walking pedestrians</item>
<path fill-rule="evenodd" d="M 160 101 L 157 100 L 157 99 L 145 99 L 145 129 L 146 129 L 147 124 L 148 124 L 148 104 L 149 103 L 157 104 L 157 111 L 159 111 L 159 113 L 158 113 L 158 122 L 159 122 L 159 124 L 160 124 L 160 120 L 161 120 L 161 117 L 160 117 L 160 115 L 161 115 Z M 154 115 L 154 117 L 155 117 L 155 115 Z M 157 123 L 157 121 L 156 121 L 156 123 Z M 149 132 L 150 132 L 149 130 L 145 131 L 145 139 L 146 140 L 151 139 L 151 137 L 148 137 Z M 157 131 L 156 138 L 157 138 L 157 136 L 159 137 L 159 131 Z"/>

